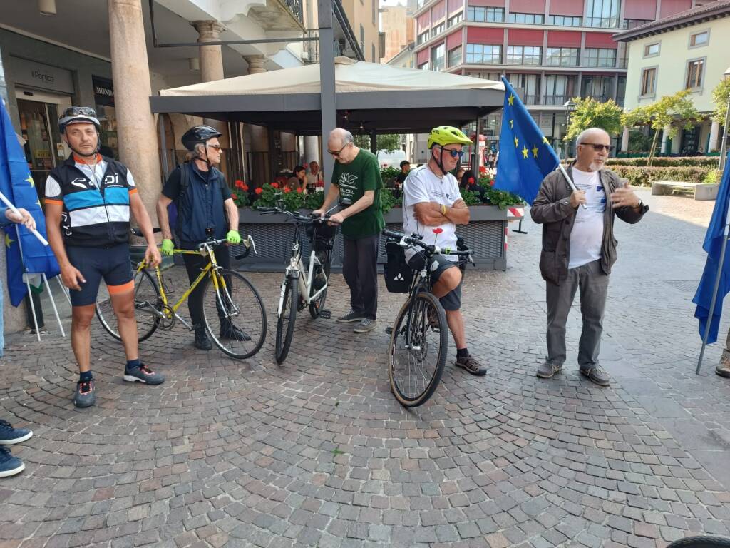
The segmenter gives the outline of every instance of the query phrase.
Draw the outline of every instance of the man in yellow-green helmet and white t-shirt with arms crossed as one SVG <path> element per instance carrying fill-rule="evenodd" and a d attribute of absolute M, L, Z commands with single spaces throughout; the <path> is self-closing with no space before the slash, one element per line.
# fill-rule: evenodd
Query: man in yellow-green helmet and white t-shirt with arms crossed
<path fill-rule="evenodd" d="M 434 256 L 431 288 L 446 312 L 446 321 L 456 343 L 456 365 L 472 375 L 485 375 L 487 370 L 466 348 L 464 318 L 461 316 L 461 270 L 456 262 L 456 225 L 469 222 L 466 207 L 451 171 L 456 168 L 464 145 L 472 141 L 459 129 L 439 126 L 429 133 L 429 161 L 410 170 L 403 185 L 403 231 L 417 232 L 426 242 L 433 242 L 444 251 Z M 420 270 L 424 256 L 414 249 L 406 250 L 409 265 Z"/>

